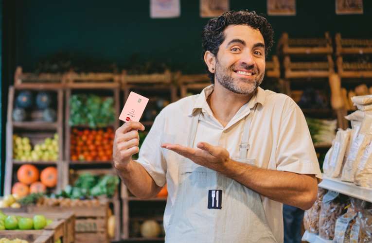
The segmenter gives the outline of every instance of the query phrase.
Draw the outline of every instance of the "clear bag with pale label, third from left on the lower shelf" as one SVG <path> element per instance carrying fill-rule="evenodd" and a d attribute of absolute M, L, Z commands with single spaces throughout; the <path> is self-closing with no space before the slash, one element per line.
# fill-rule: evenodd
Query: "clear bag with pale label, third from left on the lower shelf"
<path fill-rule="evenodd" d="M 350 243 L 351 227 L 355 222 L 357 213 L 354 206 L 348 207 L 347 212 L 336 221 L 335 238 L 333 243 Z"/>

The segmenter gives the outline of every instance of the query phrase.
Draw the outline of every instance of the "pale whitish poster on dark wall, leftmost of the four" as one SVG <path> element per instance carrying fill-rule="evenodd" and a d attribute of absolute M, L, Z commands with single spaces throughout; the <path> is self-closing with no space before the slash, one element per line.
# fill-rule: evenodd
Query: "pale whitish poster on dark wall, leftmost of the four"
<path fill-rule="evenodd" d="M 150 17 L 171 18 L 181 15 L 180 0 L 150 0 Z"/>

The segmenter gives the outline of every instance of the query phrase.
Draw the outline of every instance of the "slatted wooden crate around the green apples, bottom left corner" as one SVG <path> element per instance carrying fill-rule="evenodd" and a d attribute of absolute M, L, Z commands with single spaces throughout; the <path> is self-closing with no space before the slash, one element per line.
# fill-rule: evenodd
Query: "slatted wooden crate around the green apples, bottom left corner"
<path fill-rule="evenodd" d="M 5 214 L 11 214 L 21 217 L 29 217 L 33 218 L 35 214 L 42 214 L 47 219 L 52 219 L 53 223 L 49 226 L 46 226 L 43 231 L 51 231 L 53 243 L 61 239 L 63 243 L 74 243 L 74 230 L 75 230 L 75 214 L 71 211 L 49 211 L 49 210 L 40 210 L 40 211 L 33 211 L 32 208 L 35 207 L 27 207 L 27 212 L 22 212 L 23 208 L 19 208 L 20 212 L 17 212 L 18 208 L 4 208 L 2 211 Z M 10 230 L 0 230 L 0 235 L 7 234 Z M 42 230 L 22 230 L 20 232 L 29 231 L 29 233 L 33 234 L 33 231 L 42 231 Z M 17 231 L 16 231 L 17 232 Z M 44 233 L 43 233 L 44 234 Z M 17 237 L 16 237 L 17 238 Z M 18 237 L 19 238 L 19 237 Z"/>

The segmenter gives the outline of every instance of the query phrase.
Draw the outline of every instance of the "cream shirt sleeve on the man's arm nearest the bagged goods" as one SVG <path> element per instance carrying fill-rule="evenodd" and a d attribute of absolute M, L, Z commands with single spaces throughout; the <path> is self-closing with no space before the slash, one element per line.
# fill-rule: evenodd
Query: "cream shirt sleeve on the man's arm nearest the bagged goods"
<path fill-rule="evenodd" d="M 297 105 L 292 106 L 281 121 L 276 163 L 278 171 L 314 174 L 318 183 L 322 181 L 309 128 Z"/>

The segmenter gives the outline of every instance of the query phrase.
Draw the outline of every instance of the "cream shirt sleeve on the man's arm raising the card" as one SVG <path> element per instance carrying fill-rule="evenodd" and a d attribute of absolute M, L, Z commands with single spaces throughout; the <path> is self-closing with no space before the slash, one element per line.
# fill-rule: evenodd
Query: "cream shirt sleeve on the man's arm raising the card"
<path fill-rule="evenodd" d="M 160 147 L 161 137 L 158 122 L 159 116 L 143 140 L 137 162 L 151 175 L 159 187 L 163 187 L 166 183 L 167 163 Z"/>

